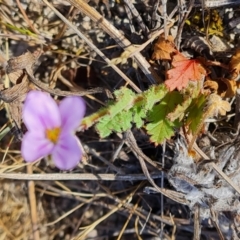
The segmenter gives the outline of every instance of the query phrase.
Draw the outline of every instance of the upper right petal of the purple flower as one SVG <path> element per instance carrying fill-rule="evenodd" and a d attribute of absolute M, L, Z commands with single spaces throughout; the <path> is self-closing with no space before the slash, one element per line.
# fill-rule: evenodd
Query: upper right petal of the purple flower
<path fill-rule="evenodd" d="M 80 125 L 86 112 L 86 104 L 81 97 L 66 97 L 60 102 L 59 111 L 62 119 L 62 131 L 74 131 Z"/>

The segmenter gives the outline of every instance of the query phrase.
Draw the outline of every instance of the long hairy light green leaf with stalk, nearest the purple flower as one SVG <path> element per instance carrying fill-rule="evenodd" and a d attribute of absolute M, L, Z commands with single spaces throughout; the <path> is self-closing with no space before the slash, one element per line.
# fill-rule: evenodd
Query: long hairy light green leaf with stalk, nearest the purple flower
<path fill-rule="evenodd" d="M 135 94 L 128 88 L 114 92 L 116 101 L 98 112 L 85 117 L 81 123 L 82 129 L 87 129 L 96 123 L 96 130 L 101 137 L 107 137 L 112 132 L 123 132 L 136 124 L 140 128 L 144 124 L 149 111 L 168 93 L 165 85 L 154 85 L 147 91 Z"/>

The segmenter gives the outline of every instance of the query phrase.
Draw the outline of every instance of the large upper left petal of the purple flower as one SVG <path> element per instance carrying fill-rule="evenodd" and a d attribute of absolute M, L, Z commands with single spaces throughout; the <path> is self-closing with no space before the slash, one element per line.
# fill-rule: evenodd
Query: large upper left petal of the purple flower
<path fill-rule="evenodd" d="M 33 131 L 59 127 L 61 118 L 57 103 L 47 93 L 29 92 L 23 106 L 23 122 Z"/>

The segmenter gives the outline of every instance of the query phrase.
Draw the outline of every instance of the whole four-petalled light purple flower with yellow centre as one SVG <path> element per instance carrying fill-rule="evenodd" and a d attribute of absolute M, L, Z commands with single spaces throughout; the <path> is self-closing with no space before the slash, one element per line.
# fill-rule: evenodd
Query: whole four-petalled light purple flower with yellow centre
<path fill-rule="evenodd" d="M 51 155 L 59 169 L 74 168 L 82 157 L 75 131 L 85 110 L 80 97 L 66 97 L 57 105 L 47 93 L 29 92 L 23 106 L 23 122 L 28 129 L 21 147 L 25 161 Z"/>

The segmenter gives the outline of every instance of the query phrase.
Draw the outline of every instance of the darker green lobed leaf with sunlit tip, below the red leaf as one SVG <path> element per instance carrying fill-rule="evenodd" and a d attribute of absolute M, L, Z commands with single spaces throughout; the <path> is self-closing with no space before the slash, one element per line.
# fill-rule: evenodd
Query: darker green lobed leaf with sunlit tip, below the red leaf
<path fill-rule="evenodd" d="M 174 134 L 174 128 L 179 127 L 180 123 L 168 120 L 167 115 L 181 102 L 182 96 L 179 92 L 170 92 L 153 107 L 148 117 L 149 123 L 146 126 L 152 142 L 160 144 Z"/>

